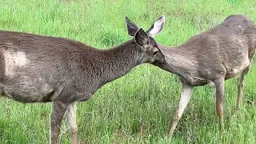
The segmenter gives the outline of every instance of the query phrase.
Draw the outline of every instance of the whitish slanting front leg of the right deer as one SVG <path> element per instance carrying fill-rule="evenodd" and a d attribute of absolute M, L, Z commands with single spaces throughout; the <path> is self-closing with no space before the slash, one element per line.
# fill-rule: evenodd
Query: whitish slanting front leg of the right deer
<path fill-rule="evenodd" d="M 178 125 L 179 119 L 182 117 L 182 113 L 186 108 L 187 103 L 190 101 L 190 97 L 193 91 L 193 86 L 182 83 L 182 94 L 179 104 L 176 108 L 176 113 L 174 114 L 173 123 L 170 125 L 168 138 L 171 138 L 174 134 L 174 130 Z"/>

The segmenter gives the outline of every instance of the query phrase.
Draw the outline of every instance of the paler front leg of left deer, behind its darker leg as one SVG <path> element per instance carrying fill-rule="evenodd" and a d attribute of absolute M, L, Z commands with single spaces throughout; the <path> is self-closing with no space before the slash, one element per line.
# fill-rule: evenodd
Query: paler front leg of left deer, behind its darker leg
<path fill-rule="evenodd" d="M 66 110 L 66 122 L 70 128 L 71 134 L 71 141 L 72 144 L 78 143 L 78 125 L 76 121 L 76 114 L 77 114 L 77 103 L 74 102 L 68 106 Z"/>

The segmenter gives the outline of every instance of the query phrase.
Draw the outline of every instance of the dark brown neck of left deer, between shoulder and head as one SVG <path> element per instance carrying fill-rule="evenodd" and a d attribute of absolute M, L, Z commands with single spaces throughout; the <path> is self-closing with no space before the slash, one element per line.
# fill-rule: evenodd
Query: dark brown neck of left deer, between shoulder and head
<path fill-rule="evenodd" d="M 134 40 L 102 52 L 101 62 L 103 64 L 100 71 L 104 83 L 122 77 L 142 62 L 142 54 Z"/>

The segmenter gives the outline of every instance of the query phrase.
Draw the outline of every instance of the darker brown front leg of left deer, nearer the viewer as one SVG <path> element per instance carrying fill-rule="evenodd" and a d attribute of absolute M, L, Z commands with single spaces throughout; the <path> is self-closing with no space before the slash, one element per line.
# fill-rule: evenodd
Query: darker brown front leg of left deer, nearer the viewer
<path fill-rule="evenodd" d="M 50 113 L 50 144 L 58 142 L 58 134 L 62 125 L 62 118 L 69 104 L 53 102 Z"/>

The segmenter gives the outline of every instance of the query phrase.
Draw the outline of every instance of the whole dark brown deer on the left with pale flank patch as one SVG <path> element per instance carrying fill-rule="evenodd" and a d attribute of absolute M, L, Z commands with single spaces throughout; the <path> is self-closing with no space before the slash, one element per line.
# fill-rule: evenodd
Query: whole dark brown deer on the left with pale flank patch
<path fill-rule="evenodd" d="M 163 18 L 162 18 L 163 19 Z M 133 38 L 110 50 L 98 50 L 67 38 L 0 31 L 0 94 L 18 102 L 52 102 L 50 143 L 58 142 L 62 118 L 78 143 L 76 102 L 142 63 L 162 63 L 154 41 L 162 26 L 146 34 L 126 18 Z"/>

